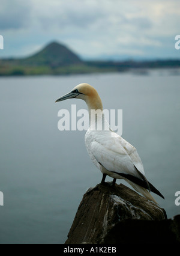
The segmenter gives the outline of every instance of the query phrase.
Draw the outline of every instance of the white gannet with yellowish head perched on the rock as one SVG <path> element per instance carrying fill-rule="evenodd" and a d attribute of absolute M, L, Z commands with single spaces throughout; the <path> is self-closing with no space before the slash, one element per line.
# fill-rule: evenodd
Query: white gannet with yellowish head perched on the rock
<path fill-rule="evenodd" d="M 164 198 L 146 179 L 143 163 L 136 148 L 110 128 L 104 118 L 103 105 L 95 88 L 89 84 L 79 84 L 56 102 L 72 98 L 85 100 L 88 105 L 90 126 L 85 135 L 85 145 L 92 162 L 103 174 L 101 183 L 105 183 L 106 176 L 109 175 L 113 178 L 112 186 L 115 185 L 117 178 L 124 179 L 137 192 L 156 204 L 150 192 Z M 91 118 L 93 109 L 97 111 L 95 119 Z M 101 130 L 97 129 L 100 120 Z"/>

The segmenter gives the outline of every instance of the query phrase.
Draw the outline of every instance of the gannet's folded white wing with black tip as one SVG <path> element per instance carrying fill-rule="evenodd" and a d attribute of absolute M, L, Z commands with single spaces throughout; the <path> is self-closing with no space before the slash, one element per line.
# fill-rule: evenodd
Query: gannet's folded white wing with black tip
<path fill-rule="evenodd" d="M 127 143 L 128 142 L 125 142 L 125 144 Z M 149 183 L 146 180 L 145 175 L 136 168 L 130 157 L 130 154 L 132 155 L 133 151 L 136 151 L 136 149 L 132 147 L 133 146 L 127 150 L 127 147 L 125 149 L 124 145 L 118 144 L 117 139 L 106 138 L 106 141 L 103 144 L 97 141 L 91 142 L 91 153 L 94 155 L 97 162 L 107 171 L 114 172 L 118 174 L 119 177 L 133 181 L 150 191 Z M 136 154 L 133 155 L 134 159 L 136 159 L 135 156 Z M 135 162 L 137 165 L 137 159 Z"/>

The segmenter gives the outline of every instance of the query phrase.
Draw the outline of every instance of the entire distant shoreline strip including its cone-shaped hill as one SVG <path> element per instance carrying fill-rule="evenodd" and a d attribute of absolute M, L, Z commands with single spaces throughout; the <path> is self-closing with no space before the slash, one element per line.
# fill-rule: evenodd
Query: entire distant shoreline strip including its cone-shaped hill
<path fill-rule="evenodd" d="M 68 75 L 82 73 L 124 72 L 146 73 L 148 69 L 180 69 L 179 59 L 149 61 L 82 61 L 63 44 L 52 42 L 26 58 L 0 59 L 0 76 Z M 145 70 L 145 71 L 144 71 Z"/>

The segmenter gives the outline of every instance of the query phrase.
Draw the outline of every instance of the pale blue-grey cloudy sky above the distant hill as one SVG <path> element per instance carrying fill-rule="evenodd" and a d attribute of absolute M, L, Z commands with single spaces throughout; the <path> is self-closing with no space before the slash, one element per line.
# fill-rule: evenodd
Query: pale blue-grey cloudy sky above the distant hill
<path fill-rule="evenodd" d="M 1 0 L 0 58 L 26 56 L 51 41 L 83 58 L 180 58 L 179 0 Z"/>

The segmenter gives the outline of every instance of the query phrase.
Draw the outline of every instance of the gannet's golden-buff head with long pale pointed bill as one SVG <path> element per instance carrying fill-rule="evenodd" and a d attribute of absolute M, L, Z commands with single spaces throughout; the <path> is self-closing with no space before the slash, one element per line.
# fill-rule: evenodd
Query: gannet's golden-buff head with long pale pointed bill
<path fill-rule="evenodd" d="M 62 100 L 73 98 L 85 100 L 89 109 L 103 110 L 100 96 L 98 95 L 94 87 L 89 84 L 77 85 L 73 88 L 72 91 L 70 91 L 70 93 L 67 93 L 64 96 L 60 97 L 58 100 L 56 100 L 56 102 L 62 102 Z"/>

